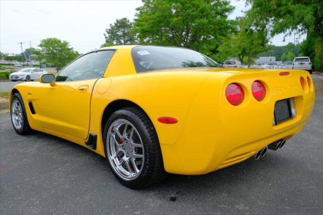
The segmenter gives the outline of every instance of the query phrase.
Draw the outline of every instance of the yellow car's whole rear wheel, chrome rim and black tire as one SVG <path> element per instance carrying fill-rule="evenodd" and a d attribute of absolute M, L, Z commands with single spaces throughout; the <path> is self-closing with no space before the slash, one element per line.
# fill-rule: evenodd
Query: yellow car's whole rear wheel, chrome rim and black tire
<path fill-rule="evenodd" d="M 139 108 L 114 112 L 103 133 L 105 157 L 116 178 L 140 189 L 166 176 L 156 131 Z"/>

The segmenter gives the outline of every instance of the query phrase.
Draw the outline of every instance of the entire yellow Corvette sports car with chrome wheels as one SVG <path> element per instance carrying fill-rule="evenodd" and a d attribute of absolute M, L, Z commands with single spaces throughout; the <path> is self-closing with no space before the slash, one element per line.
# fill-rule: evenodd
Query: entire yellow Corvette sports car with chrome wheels
<path fill-rule="evenodd" d="M 112 46 L 16 85 L 10 110 L 18 134 L 80 144 L 142 188 L 277 150 L 305 126 L 314 97 L 306 71 L 224 69 L 186 48 Z"/>

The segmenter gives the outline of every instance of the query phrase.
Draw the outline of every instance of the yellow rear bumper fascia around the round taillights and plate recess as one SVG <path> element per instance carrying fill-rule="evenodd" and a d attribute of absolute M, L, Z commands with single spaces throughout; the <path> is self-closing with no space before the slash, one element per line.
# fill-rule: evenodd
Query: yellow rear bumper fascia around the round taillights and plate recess
<path fill-rule="evenodd" d="M 284 79 L 271 83 L 272 80 L 260 77 L 257 80 L 272 86 L 266 85 L 267 95 L 261 102 L 247 88 L 254 78 L 243 81 L 229 78 L 218 89 L 213 86 L 213 92 L 221 93 L 212 96 L 207 84 L 203 84 L 176 143 L 161 144 L 165 170 L 183 175 L 206 174 L 242 162 L 266 145 L 297 134 L 311 115 L 314 89 L 303 91 L 299 78 L 297 83 Z M 212 82 L 211 78 L 207 81 Z M 232 82 L 238 82 L 245 91 L 244 102 L 238 106 L 229 104 L 222 89 Z M 296 117 L 273 125 L 275 102 L 285 98 L 294 98 Z"/>

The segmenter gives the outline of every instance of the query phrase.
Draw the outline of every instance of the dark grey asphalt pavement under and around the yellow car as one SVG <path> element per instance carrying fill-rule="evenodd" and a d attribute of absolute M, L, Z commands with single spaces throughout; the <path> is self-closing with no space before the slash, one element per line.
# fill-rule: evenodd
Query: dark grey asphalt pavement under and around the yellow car
<path fill-rule="evenodd" d="M 203 176 L 122 186 L 105 158 L 43 133 L 20 136 L 0 115 L 1 214 L 322 214 L 323 76 L 306 127 L 278 151 Z M 192 159 L 194 156 L 192 155 Z"/>

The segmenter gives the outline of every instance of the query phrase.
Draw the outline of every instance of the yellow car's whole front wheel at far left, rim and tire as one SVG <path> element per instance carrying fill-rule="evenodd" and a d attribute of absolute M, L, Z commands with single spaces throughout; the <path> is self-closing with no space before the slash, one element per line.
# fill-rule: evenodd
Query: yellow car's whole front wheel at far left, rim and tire
<path fill-rule="evenodd" d="M 18 134 L 24 135 L 32 132 L 27 120 L 24 102 L 18 92 L 14 93 L 11 98 L 10 115 L 12 125 Z"/>

